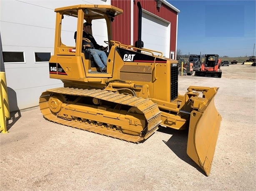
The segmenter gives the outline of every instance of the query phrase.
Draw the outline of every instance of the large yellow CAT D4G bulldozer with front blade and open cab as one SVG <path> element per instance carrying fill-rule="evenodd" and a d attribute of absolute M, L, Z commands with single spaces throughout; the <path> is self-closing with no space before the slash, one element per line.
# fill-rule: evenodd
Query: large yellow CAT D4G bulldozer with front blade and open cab
<path fill-rule="evenodd" d="M 43 92 L 40 110 L 49 121 L 134 143 L 146 140 L 158 125 L 188 128 L 187 154 L 208 176 L 221 124 L 214 105 L 218 88 L 189 86 L 185 95 L 178 94 L 178 61 L 141 46 L 142 9 L 139 2 L 137 5 L 137 47 L 113 40 L 111 22 L 123 12 L 117 7 L 73 5 L 55 9 L 49 73 L 50 78 L 60 79 L 63 87 Z M 63 29 L 63 22 L 71 18 L 77 24 L 73 30 L 77 31 L 75 47 L 64 44 L 67 29 Z M 105 19 L 108 29 L 106 73 L 91 66 L 90 52 L 82 48 L 83 22 L 98 19 L 101 23 Z M 68 27 L 70 31 L 70 24 Z"/>

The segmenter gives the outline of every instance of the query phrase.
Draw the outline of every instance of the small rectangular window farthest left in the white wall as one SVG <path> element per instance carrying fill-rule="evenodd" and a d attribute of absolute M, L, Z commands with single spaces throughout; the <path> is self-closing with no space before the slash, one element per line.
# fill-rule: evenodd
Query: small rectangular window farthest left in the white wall
<path fill-rule="evenodd" d="M 4 64 L 26 63 L 25 51 L 3 51 Z"/>

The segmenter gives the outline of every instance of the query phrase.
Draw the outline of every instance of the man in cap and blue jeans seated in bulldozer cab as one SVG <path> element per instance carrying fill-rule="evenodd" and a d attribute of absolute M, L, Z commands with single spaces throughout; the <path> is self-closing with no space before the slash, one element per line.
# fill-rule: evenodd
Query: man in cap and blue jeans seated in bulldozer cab
<path fill-rule="evenodd" d="M 86 42 L 83 40 L 83 48 L 88 49 L 93 56 L 94 61 L 99 66 L 101 72 L 107 71 L 107 59 L 105 51 L 108 47 L 100 46 L 94 39 L 93 35 L 90 34 L 92 24 L 85 22 L 83 24 L 83 38 L 89 39 L 90 42 Z M 76 32 L 75 32 L 75 40 L 76 40 Z"/>

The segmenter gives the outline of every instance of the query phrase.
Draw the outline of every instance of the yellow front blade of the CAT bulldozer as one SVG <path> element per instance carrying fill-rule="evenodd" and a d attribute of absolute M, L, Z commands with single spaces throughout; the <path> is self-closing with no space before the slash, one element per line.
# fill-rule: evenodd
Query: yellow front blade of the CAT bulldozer
<path fill-rule="evenodd" d="M 208 99 L 203 111 L 192 111 L 188 132 L 187 154 L 209 176 L 215 152 L 221 115 L 215 108 L 214 95 Z"/>

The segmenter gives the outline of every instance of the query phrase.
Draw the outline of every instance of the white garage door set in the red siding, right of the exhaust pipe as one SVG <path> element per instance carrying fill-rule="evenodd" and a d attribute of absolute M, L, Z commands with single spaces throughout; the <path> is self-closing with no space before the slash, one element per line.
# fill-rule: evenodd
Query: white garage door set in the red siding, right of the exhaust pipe
<path fill-rule="evenodd" d="M 163 52 L 163 56 L 170 56 L 171 24 L 156 15 L 142 12 L 141 40 L 144 48 Z"/>

